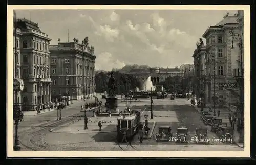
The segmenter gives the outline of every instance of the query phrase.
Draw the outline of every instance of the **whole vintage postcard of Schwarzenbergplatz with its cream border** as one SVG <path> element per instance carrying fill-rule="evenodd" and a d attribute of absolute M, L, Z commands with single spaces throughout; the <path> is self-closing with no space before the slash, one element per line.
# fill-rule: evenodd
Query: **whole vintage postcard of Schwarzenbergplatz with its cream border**
<path fill-rule="evenodd" d="M 249 5 L 7 15 L 8 157 L 249 157 Z"/>

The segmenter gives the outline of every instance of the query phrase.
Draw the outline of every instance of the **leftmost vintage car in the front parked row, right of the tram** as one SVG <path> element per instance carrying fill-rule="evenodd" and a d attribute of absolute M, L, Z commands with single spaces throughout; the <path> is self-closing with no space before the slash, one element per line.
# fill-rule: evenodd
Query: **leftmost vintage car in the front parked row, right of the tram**
<path fill-rule="evenodd" d="M 156 141 L 168 142 L 170 137 L 173 136 L 172 128 L 170 126 L 158 127 L 158 133 L 156 134 Z"/>

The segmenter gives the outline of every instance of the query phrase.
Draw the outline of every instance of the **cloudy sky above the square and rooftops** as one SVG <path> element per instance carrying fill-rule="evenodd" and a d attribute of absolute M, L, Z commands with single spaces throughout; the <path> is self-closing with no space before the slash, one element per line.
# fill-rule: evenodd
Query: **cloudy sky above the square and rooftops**
<path fill-rule="evenodd" d="M 224 10 L 17 10 L 17 17 L 37 22 L 51 45 L 89 36 L 96 69 L 124 65 L 151 67 L 192 64 L 199 37 L 229 12 Z"/>

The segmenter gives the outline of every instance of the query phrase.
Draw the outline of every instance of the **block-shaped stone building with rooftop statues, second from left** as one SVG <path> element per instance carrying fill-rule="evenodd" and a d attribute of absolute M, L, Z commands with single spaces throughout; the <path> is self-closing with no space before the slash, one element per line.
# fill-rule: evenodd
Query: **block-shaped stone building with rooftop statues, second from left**
<path fill-rule="evenodd" d="M 50 46 L 52 95 L 70 95 L 72 99 L 92 97 L 95 93 L 94 47 L 88 46 L 88 37 L 80 44 L 58 42 Z"/>

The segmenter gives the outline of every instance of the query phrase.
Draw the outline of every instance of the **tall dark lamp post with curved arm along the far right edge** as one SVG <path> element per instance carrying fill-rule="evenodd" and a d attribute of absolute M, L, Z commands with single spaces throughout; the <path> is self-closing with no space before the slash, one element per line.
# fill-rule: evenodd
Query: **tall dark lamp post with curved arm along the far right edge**
<path fill-rule="evenodd" d="M 234 75 L 234 78 L 239 84 L 239 115 L 240 115 L 240 123 L 238 125 L 239 128 L 239 142 L 244 143 L 244 137 L 243 137 L 243 129 L 244 129 L 244 70 L 243 70 L 243 41 L 242 41 L 242 36 L 238 33 L 234 33 L 234 30 L 231 29 L 229 31 L 231 35 L 231 42 L 232 42 L 232 47 L 231 49 L 234 49 L 233 46 L 233 41 L 238 40 L 238 47 L 240 50 L 240 62 L 239 62 L 239 69 L 238 69 L 238 75 Z"/>

